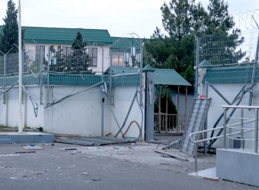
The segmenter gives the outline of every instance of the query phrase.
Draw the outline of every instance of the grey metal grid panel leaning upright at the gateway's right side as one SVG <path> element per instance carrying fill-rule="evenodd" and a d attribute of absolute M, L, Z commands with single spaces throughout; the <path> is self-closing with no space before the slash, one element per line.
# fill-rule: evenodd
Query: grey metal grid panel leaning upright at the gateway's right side
<path fill-rule="evenodd" d="M 179 147 L 180 151 L 190 156 L 194 156 L 195 146 L 194 143 L 190 140 L 190 134 L 202 130 L 210 105 L 210 98 L 193 99 L 191 112 L 189 114 L 186 128 L 184 129 L 184 135 L 182 135 L 182 140 Z"/>

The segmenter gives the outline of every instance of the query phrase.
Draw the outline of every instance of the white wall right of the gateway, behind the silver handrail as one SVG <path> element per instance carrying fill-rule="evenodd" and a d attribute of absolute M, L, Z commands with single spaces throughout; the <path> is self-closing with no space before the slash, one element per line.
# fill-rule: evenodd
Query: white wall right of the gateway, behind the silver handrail
<path fill-rule="evenodd" d="M 232 102 L 233 99 L 238 95 L 242 87 L 246 85 L 247 87 L 251 86 L 251 84 L 213 84 L 215 88 L 225 97 L 229 102 Z M 204 86 L 203 86 L 204 88 Z M 224 102 L 224 100 L 216 93 L 210 86 L 209 86 L 209 98 L 211 98 L 211 106 L 209 108 L 208 113 L 208 129 L 212 129 L 215 122 L 218 120 L 220 115 L 223 113 L 222 105 L 227 106 L 228 104 Z M 237 103 L 237 102 L 236 102 Z M 233 104 L 233 105 L 236 105 Z M 249 93 L 244 94 L 244 97 L 242 98 L 242 101 L 240 102 L 239 106 L 248 106 L 249 105 Z M 252 106 L 258 106 L 259 105 L 259 97 L 258 95 L 254 95 L 253 97 L 253 103 Z M 227 111 L 227 115 L 231 113 L 232 109 L 229 109 Z M 232 117 L 240 117 L 240 110 L 236 110 Z M 254 111 L 248 111 L 244 110 L 244 117 L 255 117 Z M 240 120 L 230 120 L 228 124 L 238 123 Z M 217 127 L 223 126 L 223 118 L 220 120 Z M 244 124 L 244 126 L 254 128 L 254 122 L 250 124 Z M 240 127 L 240 126 L 238 126 Z M 238 129 L 240 131 L 240 129 Z M 219 130 L 218 130 L 219 131 Z M 218 134 L 218 131 L 214 132 L 213 137 L 215 137 Z M 236 130 L 237 131 L 237 130 Z M 232 132 L 236 132 L 234 129 Z M 228 131 L 227 131 L 228 133 Z M 223 132 L 221 133 L 223 135 Z M 251 137 L 254 136 L 254 132 L 252 133 L 245 133 L 245 136 Z M 208 137 L 211 136 L 211 133 L 208 133 Z M 237 135 L 237 137 L 240 135 Z M 231 143 L 227 141 L 227 143 Z M 231 145 L 231 144 L 230 144 Z M 244 144 L 245 148 L 252 149 L 253 148 L 253 142 L 251 141 L 245 141 Z M 213 147 L 215 148 L 222 148 L 223 147 L 223 139 L 218 139 L 214 144 Z"/>

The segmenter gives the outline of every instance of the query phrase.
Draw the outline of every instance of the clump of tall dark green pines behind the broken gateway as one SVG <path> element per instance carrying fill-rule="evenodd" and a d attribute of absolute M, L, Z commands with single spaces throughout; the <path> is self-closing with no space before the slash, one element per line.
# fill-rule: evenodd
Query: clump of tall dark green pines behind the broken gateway
<path fill-rule="evenodd" d="M 146 51 L 153 55 L 155 66 L 173 68 L 193 84 L 191 70 L 195 37 L 201 40 L 200 61 L 207 59 L 229 64 L 242 59 L 245 53 L 237 48 L 244 38 L 240 37 L 240 30 L 234 28 L 228 7 L 224 0 L 209 0 L 207 10 L 195 0 L 171 0 L 169 5 L 163 3 L 160 8 L 162 25 L 168 36 L 156 28 L 151 39 L 145 43 Z M 204 37 L 208 35 L 210 37 Z M 219 39 L 218 35 L 224 35 L 224 39 Z"/>

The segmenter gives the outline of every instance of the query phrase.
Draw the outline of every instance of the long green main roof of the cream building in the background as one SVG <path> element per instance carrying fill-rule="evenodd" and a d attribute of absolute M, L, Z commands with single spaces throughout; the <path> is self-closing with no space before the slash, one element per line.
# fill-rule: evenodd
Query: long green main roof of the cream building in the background
<path fill-rule="evenodd" d="M 3 26 L 0 26 L 0 32 L 2 33 Z M 71 45 L 73 39 L 77 35 L 77 31 L 81 32 L 89 45 L 95 42 L 95 46 L 110 45 L 113 44 L 111 36 L 108 30 L 96 30 L 96 29 L 84 29 L 84 28 L 47 28 L 47 27 L 32 27 L 23 26 L 22 29 L 26 29 L 25 41 L 26 43 L 38 44 L 69 44 Z M 33 39 L 33 40 L 32 40 Z"/>

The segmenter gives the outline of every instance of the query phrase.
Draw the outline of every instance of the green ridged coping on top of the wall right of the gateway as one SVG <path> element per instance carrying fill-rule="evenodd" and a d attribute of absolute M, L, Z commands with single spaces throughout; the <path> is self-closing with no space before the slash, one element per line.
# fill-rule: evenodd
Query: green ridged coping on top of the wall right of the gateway
<path fill-rule="evenodd" d="M 233 66 L 208 68 L 202 83 L 211 84 L 249 84 L 253 75 L 253 66 Z M 259 68 L 256 69 L 255 82 L 259 82 Z"/>

